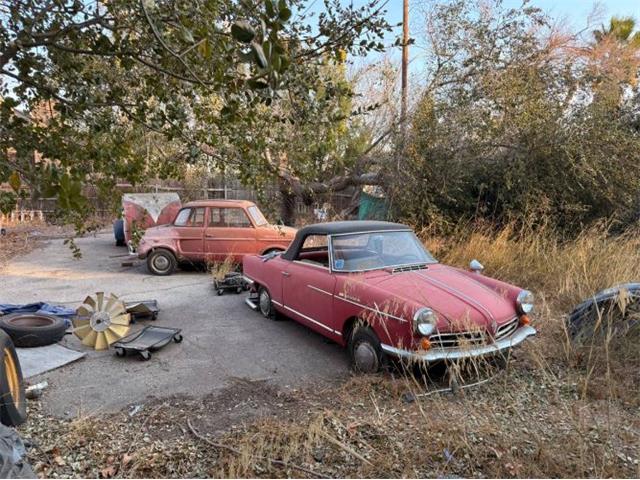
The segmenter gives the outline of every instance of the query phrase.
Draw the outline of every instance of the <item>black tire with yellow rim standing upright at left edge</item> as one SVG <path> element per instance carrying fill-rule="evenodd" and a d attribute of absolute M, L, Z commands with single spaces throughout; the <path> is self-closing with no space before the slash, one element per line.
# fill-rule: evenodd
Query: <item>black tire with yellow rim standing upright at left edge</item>
<path fill-rule="evenodd" d="M 11 338 L 4 332 L 0 332 L 0 351 L 0 422 L 14 427 L 27 419 L 27 402 L 20 361 Z"/>

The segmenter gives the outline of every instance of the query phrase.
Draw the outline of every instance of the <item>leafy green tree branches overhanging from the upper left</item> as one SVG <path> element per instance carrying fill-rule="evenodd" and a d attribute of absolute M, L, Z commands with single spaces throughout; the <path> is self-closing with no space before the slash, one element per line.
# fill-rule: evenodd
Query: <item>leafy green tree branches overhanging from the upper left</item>
<path fill-rule="evenodd" d="M 177 161 L 277 177 L 265 126 L 291 122 L 287 95 L 334 121 L 316 94 L 340 80 L 322 69 L 382 48 L 384 3 L 328 1 L 312 24 L 306 0 L 0 1 L 0 181 L 81 218 L 83 185 L 110 192 L 149 173 L 138 147 L 150 132 L 182 145 Z"/>

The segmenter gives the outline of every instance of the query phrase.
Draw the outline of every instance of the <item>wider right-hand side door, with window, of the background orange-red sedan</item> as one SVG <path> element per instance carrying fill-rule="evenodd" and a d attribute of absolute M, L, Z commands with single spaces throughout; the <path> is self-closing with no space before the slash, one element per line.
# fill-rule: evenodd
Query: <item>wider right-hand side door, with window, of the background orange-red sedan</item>
<path fill-rule="evenodd" d="M 204 234 L 207 259 L 223 262 L 227 257 L 242 261 L 255 251 L 256 229 L 240 207 L 209 207 Z"/>

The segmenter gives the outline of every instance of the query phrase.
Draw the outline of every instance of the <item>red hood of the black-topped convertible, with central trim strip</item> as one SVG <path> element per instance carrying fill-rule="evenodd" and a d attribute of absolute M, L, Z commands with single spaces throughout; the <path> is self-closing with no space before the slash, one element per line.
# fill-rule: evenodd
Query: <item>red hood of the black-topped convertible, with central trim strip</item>
<path fill-rule="evenodd" d="M 408 272 L 377 272 L 366 282 L 410 304 L 438 314 L 438 329 L 495 327 L 516 316 L 515 305 L 501 293 L 445 265 Z"/>

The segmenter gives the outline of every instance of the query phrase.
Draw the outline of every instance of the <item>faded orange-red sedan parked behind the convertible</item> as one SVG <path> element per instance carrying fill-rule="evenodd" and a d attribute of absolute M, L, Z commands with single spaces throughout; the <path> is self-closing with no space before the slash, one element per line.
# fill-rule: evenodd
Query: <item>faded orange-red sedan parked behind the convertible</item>
<path fill-rule="evenodd" d="M 178 261 L 242 262 L 249 254 L 285 250 L 296 230 L 271 225 L 247 200 L 201 200 L 182 206 L 173 223 L 149 228 L 138 246 L 155 275 L 170 275 Z"/>

